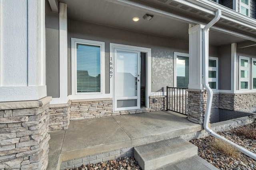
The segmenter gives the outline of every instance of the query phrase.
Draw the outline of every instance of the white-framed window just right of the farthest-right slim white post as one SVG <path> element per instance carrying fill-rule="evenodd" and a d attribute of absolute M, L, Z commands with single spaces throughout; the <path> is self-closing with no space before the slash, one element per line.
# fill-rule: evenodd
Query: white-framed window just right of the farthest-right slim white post
<path fill-rule="evenodd" d="M 249 57 L 239 56 L 239 90 L 249 89 Z"/>

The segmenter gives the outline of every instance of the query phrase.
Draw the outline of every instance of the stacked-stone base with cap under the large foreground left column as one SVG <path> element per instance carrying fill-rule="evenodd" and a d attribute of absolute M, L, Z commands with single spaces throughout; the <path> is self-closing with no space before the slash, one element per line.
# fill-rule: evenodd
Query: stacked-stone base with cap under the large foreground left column
<path fill-rule="evenodd" d="M 50 100 L 0 103 L 0 169 L 46 169 Z"/>

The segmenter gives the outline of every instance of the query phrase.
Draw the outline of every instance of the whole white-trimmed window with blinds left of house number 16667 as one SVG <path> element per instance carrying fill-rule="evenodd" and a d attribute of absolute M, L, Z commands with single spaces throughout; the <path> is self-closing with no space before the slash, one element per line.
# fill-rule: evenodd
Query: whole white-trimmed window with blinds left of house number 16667
<path fill-rule="evenodd" d="M 105 43 L 71 38 L 72 94 L 102 94 Z"/>

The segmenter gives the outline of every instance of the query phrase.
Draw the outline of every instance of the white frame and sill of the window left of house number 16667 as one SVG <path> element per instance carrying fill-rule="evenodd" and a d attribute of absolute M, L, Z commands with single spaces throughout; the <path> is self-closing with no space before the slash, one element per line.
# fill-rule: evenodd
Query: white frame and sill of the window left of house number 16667
<path fill-rule="evenodd" d="M 94 45 L 100 47 L 100 92 L 77 93 L 76 87 L 76 45 Z M 70 100 L 108 98 L 105 94 L 105 43 L 86 39 L 71 38 L 71 95 Z"/>

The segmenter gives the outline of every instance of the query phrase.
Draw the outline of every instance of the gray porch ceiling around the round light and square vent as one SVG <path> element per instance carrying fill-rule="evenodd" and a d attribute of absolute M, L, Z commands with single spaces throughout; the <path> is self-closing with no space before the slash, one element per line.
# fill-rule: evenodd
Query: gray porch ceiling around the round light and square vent
<path fill-rule="evenodd" d="M 67 4 L 68 18 L 72 20 L 87 21 L 111 27 L 118 27 L 121 29 L 128 29 L 132 31 L 188 41 L 188 21 L 177 20 L 177 18 L 171 18 L 167 16 L 160 16 L 159 14 L 154 14 L 153 12 L 149 12 L 146 9 L 134 8 L 133 6 L 124 6 L 122 4 L 116 4 L 110 1 L 111 0 L 59 0 L 59 2 Z M 159 1 L 161 2 L 165 0 Z M 151 6 L 151 4 L 148 5 Z M 160 6 L 159 8 L 162 9 Z M 179 13 L 177 9 L 174 10 L 174 8 L 172 8 L 173 7 L 170 6 L 168 7 L 168 10 L 170 11 L 171 9 L 174 14 Z M 186 6 L 183 8 L 186 8 Z M 193 8 L 187 10 L 192 10 L 194 13 L 196 12 L 193 10 Z M 146 13 L 154 15 L 152 20 L 148 21 L 143 19 L 143 16 Z M 212 14 L 207 14 L 207 16 L 205 16 L 205 13 L 196 13 L 198 14 L 186 17 L 205 23 L 214 17 Z M 185 16 L 186 14 L 184 12 L 180 12 L 179 15 Z M 132 18 L 134 17 L 139 17 L 140 20 L 138 22 L 134 22 L 132 21 Z M 209 35 L 210 45 L 216 46 L 237 43 L 246 40 L 216 30 L 210 30 Z"/>

